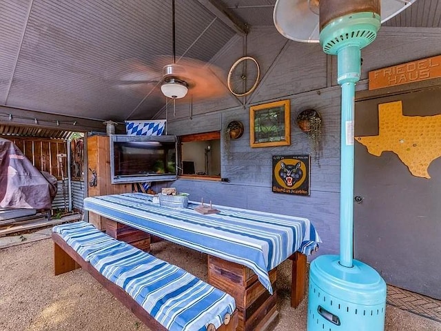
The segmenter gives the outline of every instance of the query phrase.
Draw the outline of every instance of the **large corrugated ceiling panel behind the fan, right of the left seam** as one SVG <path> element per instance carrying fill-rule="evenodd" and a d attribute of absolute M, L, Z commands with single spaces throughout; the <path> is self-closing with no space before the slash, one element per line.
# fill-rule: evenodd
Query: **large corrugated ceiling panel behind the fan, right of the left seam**
<path fill-rule="evenodd" d="M 129 94 L 116 88 L 111 72 L 125 59 L 150 66 L 171 55 L 171 12 L 171 1 L 161 0 L 34 0 L 7 105 L 123 121 L 154 89 L 140 110 L 152 117 L 165 103 L 159 89 L 151 84 Z M 234 32 L 218 22 L 204 32 L 214 19 L 195 1 L 177 1 L 177 52 L 192 46 L 187 56 L 203 61 L 216 54 Z M 161 77 L 162 68 L 152 70 Z"/>

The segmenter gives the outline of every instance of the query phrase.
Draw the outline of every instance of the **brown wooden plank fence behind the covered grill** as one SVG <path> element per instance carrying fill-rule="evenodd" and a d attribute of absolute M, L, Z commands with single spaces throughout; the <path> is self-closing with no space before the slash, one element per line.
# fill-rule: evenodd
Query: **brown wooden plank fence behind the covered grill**
<path fill-rule="evenodd" d="M 66 154 L 67 146 L 64 140 L 44 139 L 44 138 L 27 138 L 13 137 L 7 138 L 12 141 L 25 154 L 35 168 L 40 171 L 46 171 L 62 179 L 62 171 L 64 178 L 68 177 L 68 169 L 66 168 L 68 158 L 63 157 L 59 163 L 57 154 Z"/>

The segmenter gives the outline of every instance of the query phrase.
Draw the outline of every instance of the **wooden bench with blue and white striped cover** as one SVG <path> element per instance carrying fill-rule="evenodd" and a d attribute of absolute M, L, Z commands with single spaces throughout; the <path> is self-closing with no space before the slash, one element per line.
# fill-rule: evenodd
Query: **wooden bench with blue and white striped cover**
<path fill-rule="evenodd" d="M 54 273 L 83 268 L 154 331 L 234 331 L 233 297 L 85 222 L 52 229 Z"/>

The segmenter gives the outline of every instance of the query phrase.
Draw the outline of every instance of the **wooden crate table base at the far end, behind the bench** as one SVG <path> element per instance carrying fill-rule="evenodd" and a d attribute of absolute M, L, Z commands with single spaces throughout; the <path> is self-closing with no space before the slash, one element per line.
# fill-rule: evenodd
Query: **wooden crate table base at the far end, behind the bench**
<path fill-rule="evenodd" d="M 126 243 L 130 243 L 140 250 L 150 252 L 150 233 L 132 228 L 129 225 L 107 219 L 105 233 Z"/>

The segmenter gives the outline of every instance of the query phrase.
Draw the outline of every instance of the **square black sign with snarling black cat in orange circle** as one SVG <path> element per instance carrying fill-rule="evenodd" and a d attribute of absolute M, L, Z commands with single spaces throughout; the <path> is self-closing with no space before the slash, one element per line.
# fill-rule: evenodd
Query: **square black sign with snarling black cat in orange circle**
<path fill-rule="evenodd" d="M 310 165 L 309 155 L 273 156 L 272 191 L 309 195 Z"/>

